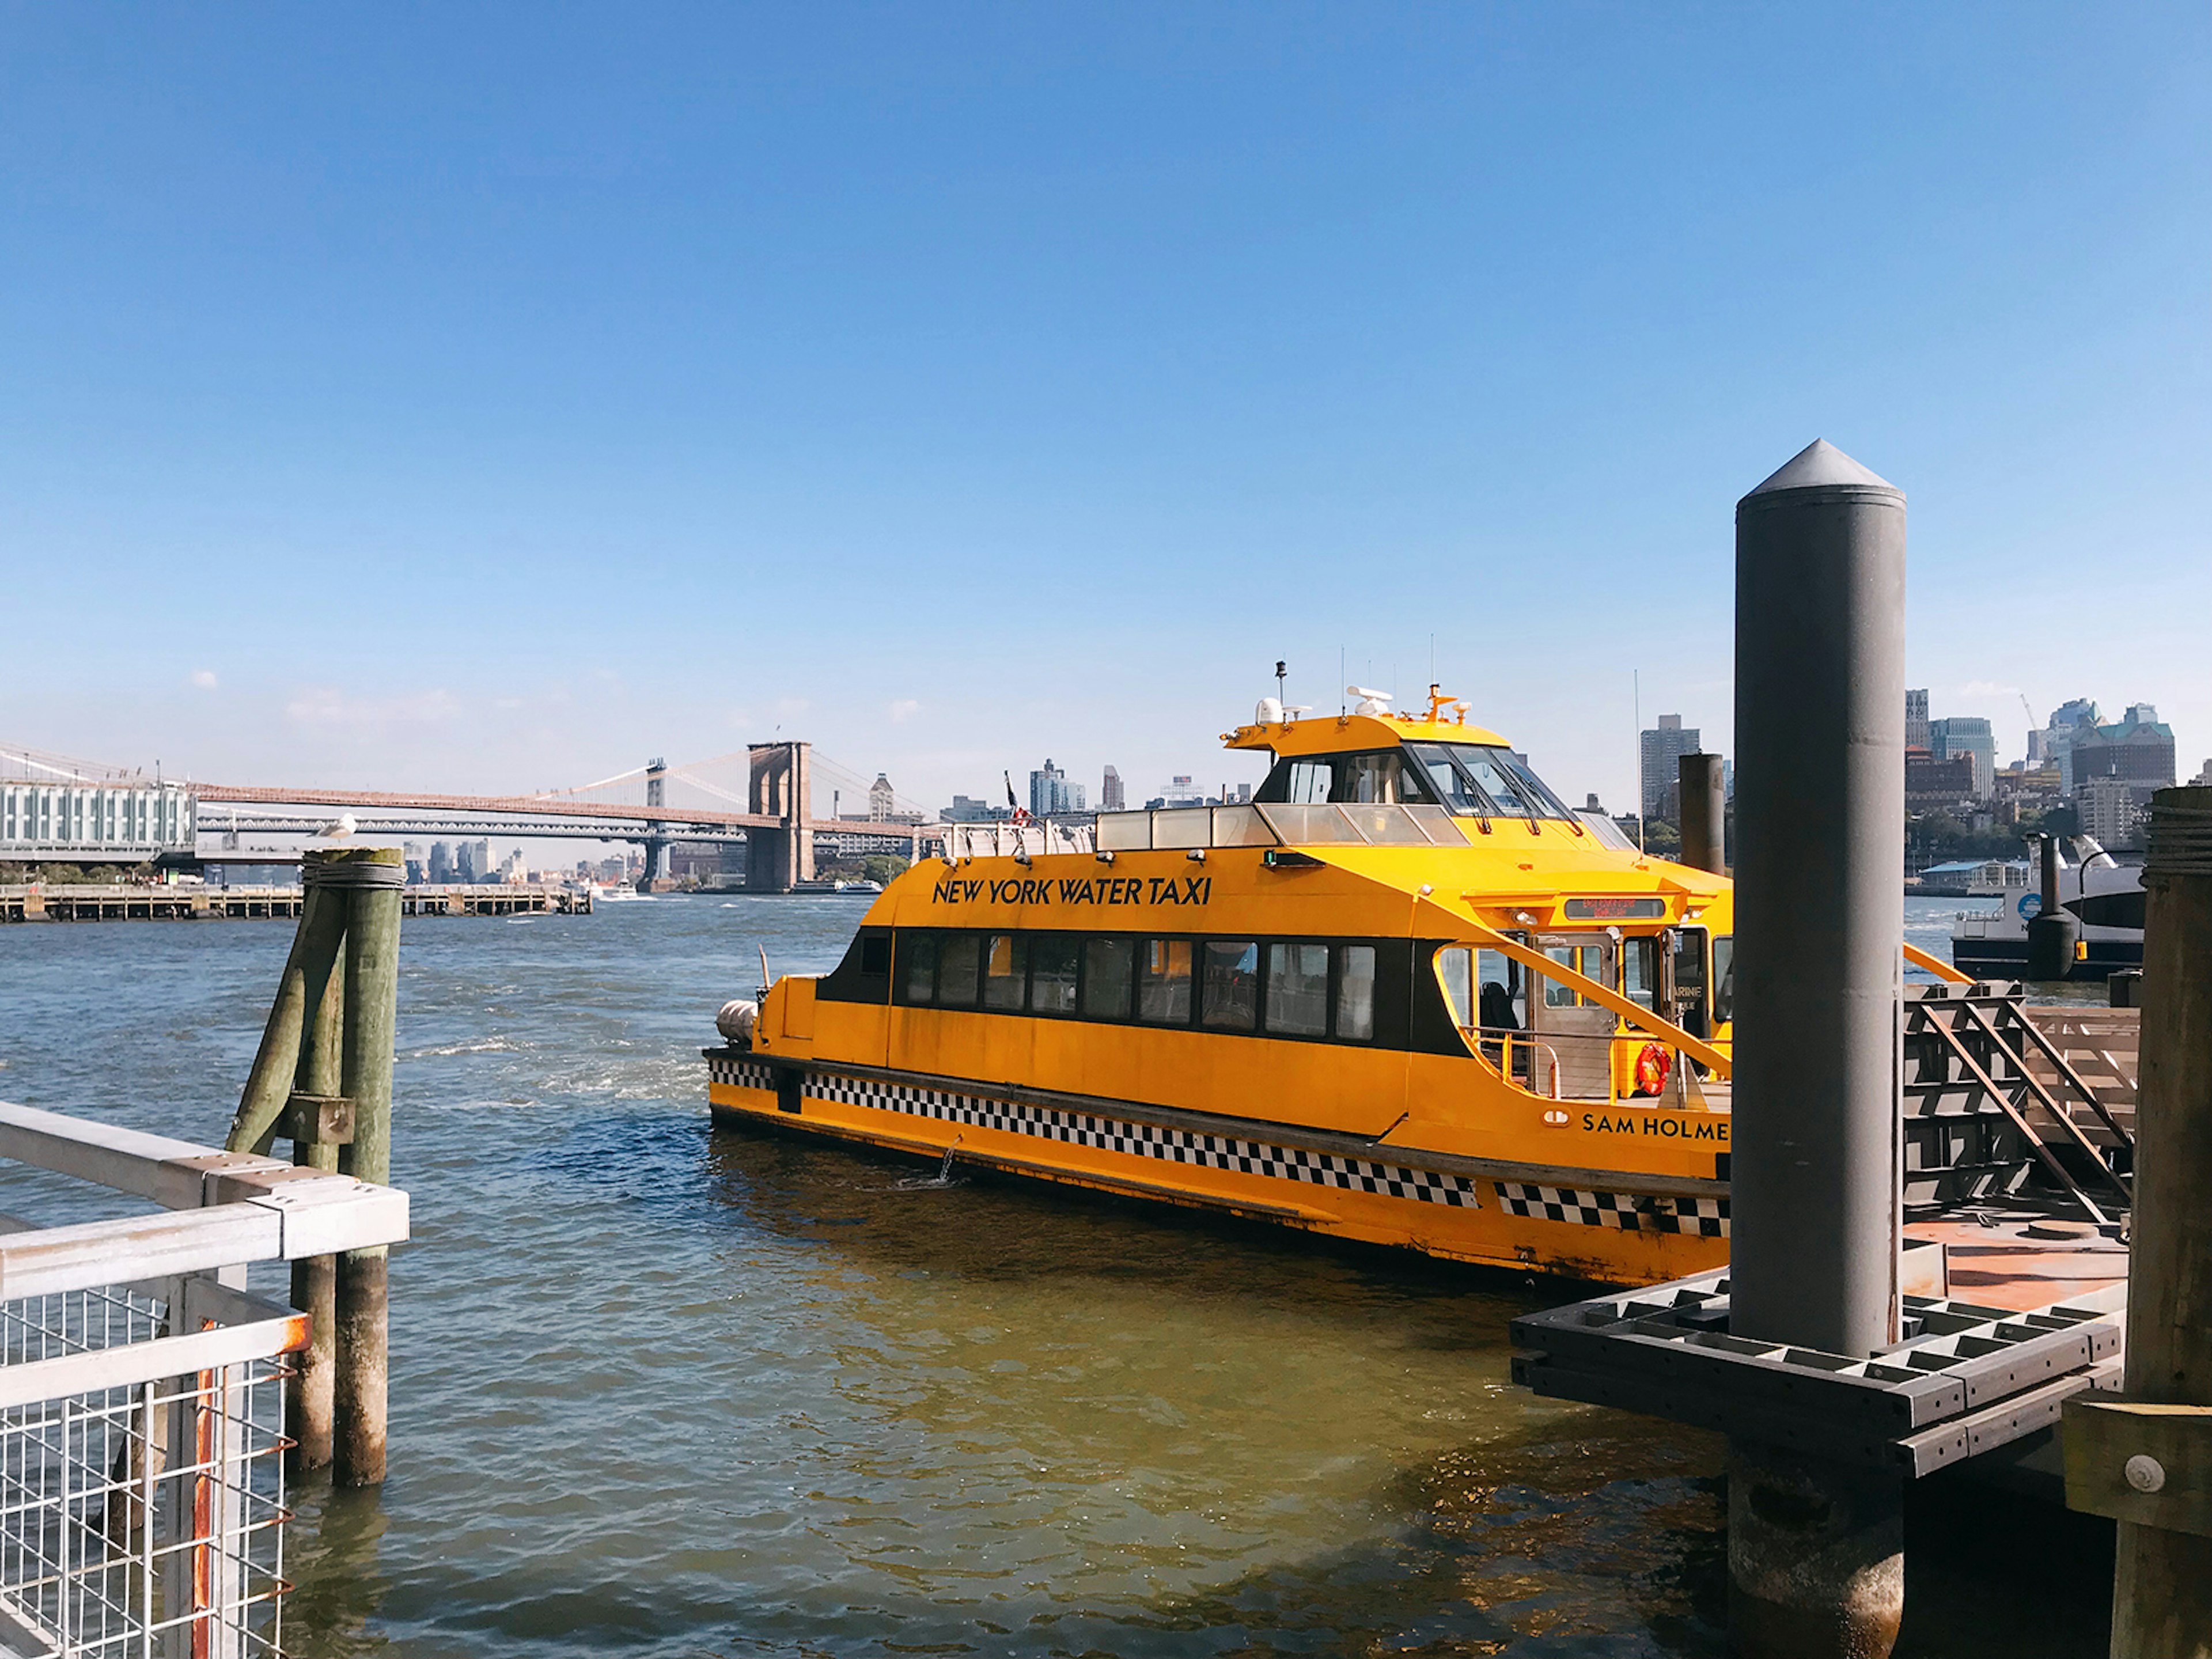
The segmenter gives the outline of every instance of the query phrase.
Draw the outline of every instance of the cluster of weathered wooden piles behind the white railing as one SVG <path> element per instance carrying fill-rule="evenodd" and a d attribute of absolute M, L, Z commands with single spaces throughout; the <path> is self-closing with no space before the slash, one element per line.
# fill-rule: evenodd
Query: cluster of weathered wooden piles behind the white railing
<path fill-rule="evenodd" d="M 301 860 L 305 902 L 226 1148 L 268 1152 L 378 1186 L 392 1179 L 392 1044 L 398 1022 L 398 847 Z M 345 1486 L 385 1478 L 387 1248 L 292 1263 L 292 1305 L 314 1321 L 288 1398 L 296 1469 Z"/>

